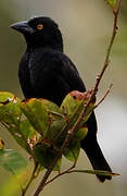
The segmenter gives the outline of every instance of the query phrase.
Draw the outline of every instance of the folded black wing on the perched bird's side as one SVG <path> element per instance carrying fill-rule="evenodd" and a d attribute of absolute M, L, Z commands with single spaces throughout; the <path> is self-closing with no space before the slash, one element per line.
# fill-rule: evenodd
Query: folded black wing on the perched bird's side
<path fill-rule="evenodd" d="M 31 61 L 30 83 L 36 97 L 61 105 L 72 90 L 85 91 L 85 85 L 73 62 L 63 52 L 47 52 Z"/>

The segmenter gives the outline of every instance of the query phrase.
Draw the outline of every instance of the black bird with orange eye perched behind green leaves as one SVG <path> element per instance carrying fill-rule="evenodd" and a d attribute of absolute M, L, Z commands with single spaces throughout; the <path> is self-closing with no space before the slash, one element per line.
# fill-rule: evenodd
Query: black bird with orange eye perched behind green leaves
<path fill-rule="evenodd" d="M 28 22 L 15 23 L 11 27 L 22 33 L 27 44 L 18 70 L 21 87 L 26 99 L 46 98 L 61 106 L 72 90 L 86 90 L 77 69 L 63 52 L 62 34 L 54 21 L 46 16 L 36 16 Z M 93 112 L 87 126 L 88 134 L 81 140 L 81 148 L 94 170 L 111 172 L 97 142 L 97 120 Z M 112 179 L 97 176 L 101 182 Z"/>

